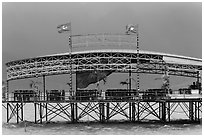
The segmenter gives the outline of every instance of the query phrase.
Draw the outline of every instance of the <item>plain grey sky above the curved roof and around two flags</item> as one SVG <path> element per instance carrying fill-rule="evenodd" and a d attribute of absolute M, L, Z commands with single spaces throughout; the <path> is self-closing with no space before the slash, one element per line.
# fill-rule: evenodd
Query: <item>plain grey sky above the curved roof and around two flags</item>
<path fill-rule="evenodd" d="M 139 24 L 140 49 L 202 58 L 202 3 L 2 3 L 2 79 L 5 63 L 64 53 L 67 35 L 57 26 L 72 23 L 72 34 L 125 33 Z"/>

